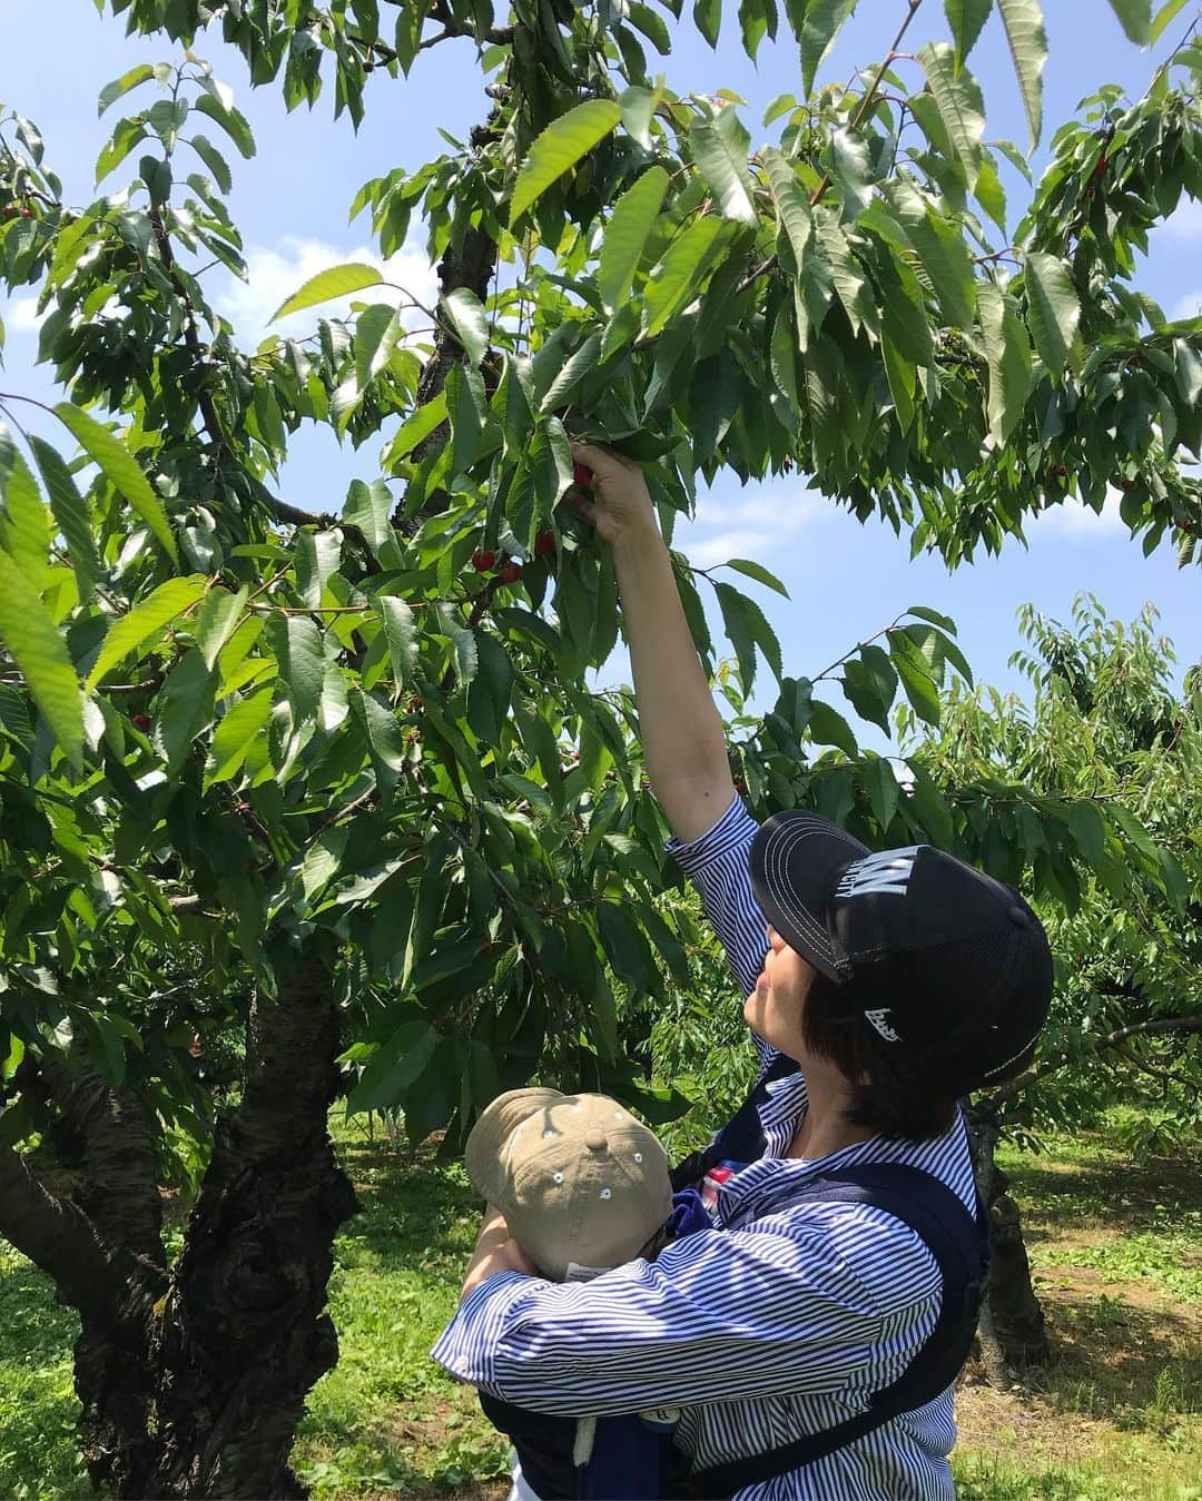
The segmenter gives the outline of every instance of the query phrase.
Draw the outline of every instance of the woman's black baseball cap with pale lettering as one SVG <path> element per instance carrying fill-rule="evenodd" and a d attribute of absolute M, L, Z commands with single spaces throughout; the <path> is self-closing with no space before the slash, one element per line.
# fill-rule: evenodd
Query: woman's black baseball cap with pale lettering
<path fill-rule="evenodd" d="M 899 1073 L 956 1094 L 1013 1076 L 1052 1003 L 1052 950 L 1017 892 L 935 850 L 869 850 L 816 814 L 776 814 L 752 886 L 791 949 L 828 976 Z"/>

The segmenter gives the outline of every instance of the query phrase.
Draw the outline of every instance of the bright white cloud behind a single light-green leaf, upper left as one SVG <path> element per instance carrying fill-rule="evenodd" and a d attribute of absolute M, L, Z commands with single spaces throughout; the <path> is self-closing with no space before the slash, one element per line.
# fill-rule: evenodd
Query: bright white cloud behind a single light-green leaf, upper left
<path fill-rule="evenodd" d="M 390 287 L 366 287 L 354 294 L 356 302 L 399 305 L 407 300 L 405 294 L 408 294 L 410 299 L 429 308 L 438 297 L 435 269 L 416 245 L 405 245 L 396 255 L 381 261 L 365 245 L 347 249 L 324 240 L 285 234 L 275 245 L 251 245 L 246 251 L 248 279 L 242 282 L 236 276 L 230 276 L 225 291 L 219 293 L 213 303 L 218 312 L 233 323 L 239 341 L 243 344 L 257 345 L 272 333 L 285 338 L 306 335 L 312 332 L 318 317 L 345 317 L 353 299 L 339 297 L 335 302 L 306 308 L 281 318 L 270 327 L 269 320 L 276 308 L 303 287 L 311 276 L 348 261 L 377 266 L 386 281 L 393 284 Z M 429 324 L 429 318 L 416 309 L 408 309 L 404 321 L 407 327 Z"/>

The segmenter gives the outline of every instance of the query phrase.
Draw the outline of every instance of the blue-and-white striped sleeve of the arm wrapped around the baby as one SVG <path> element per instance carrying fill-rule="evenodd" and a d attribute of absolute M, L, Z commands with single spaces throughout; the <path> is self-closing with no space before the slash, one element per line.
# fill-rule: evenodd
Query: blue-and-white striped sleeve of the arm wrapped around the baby
<path fill-rule="evenodd" d="M 882 1345 L 903 1363 L 933 1321 L 933 1259 L 896 1222 L 875 1228 L 899 1310 L 821 1225 L 770 1223 L 690 1235 L 588 1283 L 489 1277 L 434 1358 L 503 1400 L 582 1417 L 870 1388 Z"/>

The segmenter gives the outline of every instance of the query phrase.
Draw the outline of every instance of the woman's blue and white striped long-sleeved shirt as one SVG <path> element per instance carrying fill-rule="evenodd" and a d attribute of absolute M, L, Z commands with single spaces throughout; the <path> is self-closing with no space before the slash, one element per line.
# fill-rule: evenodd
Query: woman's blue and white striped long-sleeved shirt
<path fill-rule="evenodd" d="M 743 992 L 767 953 L 747 850 L 756 824 L 737 799 L 687 845 L 696 883 Z M 756 1039 L 765 1067 L 776 1057 Z M 782 1210 L 782 1189 L 863 1162 L 905 1162 L 972 1210 L 965 1124 L 932 1141 L 882 1136 L 819 1159 L 786 1157 L 806 1111 L 800 1073 L 761 1112 L 768 1148 L 719 1189 L 720 1235 L 690 1235 L 656 1261 L 561 1285 L 507 1271 L 462 1301 L 434 1348 L 452 1375 L 539 1412 L 614 1414 L 680 1406 L 675 1442 L 720 1463 L 833 1427 L 894 1381 L 935 1325 L 939 1273 L 906 1225 L 861 1204 Z M 954 1496 L 948 1388 L 740 1501 L 942 1501 Z"/>

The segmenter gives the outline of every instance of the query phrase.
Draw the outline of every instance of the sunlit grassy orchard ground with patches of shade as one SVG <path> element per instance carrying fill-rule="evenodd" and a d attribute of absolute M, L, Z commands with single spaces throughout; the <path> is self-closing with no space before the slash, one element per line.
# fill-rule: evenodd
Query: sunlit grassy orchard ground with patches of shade
<path fill-rule="evenodd" d="M 294 1462 L 323 1501 L 500 1498 L 506 1445 L 474 1394 L 431 1363 L 479 1205 L 458 1163 L 396 1150 L 365 1117 L 332 1117 L 363 1213 L 336 1244 L 342 1358 L 315 1388 Z M 1010 1393 L 969 1367 L 953 1457 L 962 1501 L 1199 1501 L 1199 1163 L 1047 1138 L 999 1160 L 1025 1211 L 1055 1360 Z M 180 1243 L 179 1207 L 174 1240 Z M 0 1249 L 0 1495 L 89 1496 L 74 1441 L 75 1315 Z"/>

